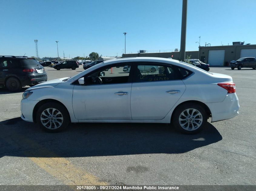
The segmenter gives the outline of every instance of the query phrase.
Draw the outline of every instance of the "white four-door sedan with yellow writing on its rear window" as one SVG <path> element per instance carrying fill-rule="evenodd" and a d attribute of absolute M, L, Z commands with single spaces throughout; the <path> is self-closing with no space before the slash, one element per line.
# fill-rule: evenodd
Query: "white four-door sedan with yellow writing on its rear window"
<path fill-rule="evenodd" d="M 129 72 L 123 72 L 128 66 Z M 139 68 L 157 67 L 141 72 Z M 106 71 L 108 69 L 108 71 Z M 192 134 L 238 115 L 235 84 L 174 59 L 138 57 L 104 61 L 71 77 L 47 81 L 22 95 L 21 118 L 48 132 L 69 123 L 170 123 Z"/>

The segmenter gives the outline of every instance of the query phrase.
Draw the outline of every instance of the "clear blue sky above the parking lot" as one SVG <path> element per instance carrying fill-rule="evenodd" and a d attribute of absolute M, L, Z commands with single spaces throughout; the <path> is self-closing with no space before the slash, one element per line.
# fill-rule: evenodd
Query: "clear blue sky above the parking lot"
<path fill-rule="evenodd" d="M 0 0 L 0 55 L 121 56 L 180 49 L 182 0 Z M 186 50 L 256 44 L 256 1 L 188 0 Z"/>

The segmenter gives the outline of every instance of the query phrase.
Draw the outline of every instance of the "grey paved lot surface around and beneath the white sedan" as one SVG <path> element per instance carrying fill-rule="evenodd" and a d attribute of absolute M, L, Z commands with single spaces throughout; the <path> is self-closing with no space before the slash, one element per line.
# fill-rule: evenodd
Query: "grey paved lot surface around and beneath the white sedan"
<path fill-rule="evenodd" d="M 45 70 L 52 80 L 83 68 Z M 232 76 L 240 114 L 196 135 L 137 123 L 71 124 L 50 134 L 20 118 L 22 92 L 0 88 L 0 185 L 255 185 L 256 70 L 210 72 Z"/>

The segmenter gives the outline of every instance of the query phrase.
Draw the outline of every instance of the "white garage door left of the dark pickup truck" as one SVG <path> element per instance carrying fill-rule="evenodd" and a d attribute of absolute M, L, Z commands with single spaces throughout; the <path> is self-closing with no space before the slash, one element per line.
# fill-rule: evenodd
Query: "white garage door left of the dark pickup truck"
<path fill-rule="evenodd" d="M 223 66 L 225 50 L 209 50 L 208 63 L 211 66 Z"/>

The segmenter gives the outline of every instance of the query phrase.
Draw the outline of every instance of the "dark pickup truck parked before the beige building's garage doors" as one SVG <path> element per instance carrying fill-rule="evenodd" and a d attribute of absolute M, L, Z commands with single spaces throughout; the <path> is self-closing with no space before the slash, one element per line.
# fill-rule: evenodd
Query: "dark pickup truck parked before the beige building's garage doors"
<path fill-rule="evenodd" d="M 244 57 L 240 58 L 238 60 L 233 60 L 229 63 L 229 66 L 232 70 L 237 68 L 238 70 L 241 70 L 241 68 L 252 68 L 256 69 L 256 60 L 254 57 Z"/>

